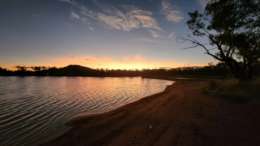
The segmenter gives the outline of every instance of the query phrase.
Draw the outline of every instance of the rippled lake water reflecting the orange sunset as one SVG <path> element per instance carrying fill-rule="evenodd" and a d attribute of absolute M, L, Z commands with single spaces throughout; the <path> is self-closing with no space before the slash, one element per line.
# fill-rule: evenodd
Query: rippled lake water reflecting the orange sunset
<path fill-rule="evenodd" d="M 1 77 L 0 145 L 38 145 L 83 113 L 99 113 L 165 89 L 172 81 L 140 77 Z"/>

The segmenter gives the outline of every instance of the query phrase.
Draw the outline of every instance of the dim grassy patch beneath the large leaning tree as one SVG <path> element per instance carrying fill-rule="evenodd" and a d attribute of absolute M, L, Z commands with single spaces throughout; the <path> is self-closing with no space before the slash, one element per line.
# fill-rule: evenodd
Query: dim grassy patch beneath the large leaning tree
<path fill-rule="evenodd" d="M 243 83 L 234 80 L 212 80 L 202 85 L 203 94 L 229 99 L 234 103 L 249 103 L 260 106 L 260 78 Z"/>

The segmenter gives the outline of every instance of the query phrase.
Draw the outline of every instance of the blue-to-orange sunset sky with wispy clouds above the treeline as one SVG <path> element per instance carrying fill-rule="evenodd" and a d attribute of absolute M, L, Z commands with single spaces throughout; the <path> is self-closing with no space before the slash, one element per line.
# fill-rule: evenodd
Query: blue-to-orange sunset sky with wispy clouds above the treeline
<path fill-rule="evenodd" d="M 200 47 L 182 50 L 192 44 L 176 36 L 191 33 L 187 13 L 208 1 L 0 0 L 0 67 L 204 66 L 216 61 Z"/>

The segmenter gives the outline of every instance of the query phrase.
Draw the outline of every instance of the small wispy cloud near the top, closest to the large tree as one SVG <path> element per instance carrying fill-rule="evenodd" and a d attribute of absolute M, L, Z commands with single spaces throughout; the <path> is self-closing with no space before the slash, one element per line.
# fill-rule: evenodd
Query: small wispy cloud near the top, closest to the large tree
<path fill-rule="evenodd" d="M 180 8 L 172 5 L 171 0 L 162 0 L 161 14 L 166 15 L 166 19 L 171 22 L 180 22 L 183 19 Z"/>

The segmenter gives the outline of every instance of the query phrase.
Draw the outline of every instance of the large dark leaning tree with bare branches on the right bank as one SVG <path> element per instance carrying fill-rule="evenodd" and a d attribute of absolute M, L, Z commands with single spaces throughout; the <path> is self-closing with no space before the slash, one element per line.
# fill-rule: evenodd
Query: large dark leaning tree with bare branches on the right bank
<path fill-rule="evenodd" d="M 194 36 L 207 37 L 209 43 L 200 43 L 190 34 L 186 34 L 186 38 L 179 35 L 176 40 L 193 44 L 187 48 L 204 48 L 204 54 L 225 62 L 236 78 L 251 80 L 253 64 L 260 54 L 260 1 L 211 0 L 204 14 L 196 10 L 188 15 L 189 30 Z M 210 53 L 213 49 L 218 49 L 215 55 Z M 242 67 L 236 59 L 243 59 Z"/>

